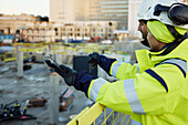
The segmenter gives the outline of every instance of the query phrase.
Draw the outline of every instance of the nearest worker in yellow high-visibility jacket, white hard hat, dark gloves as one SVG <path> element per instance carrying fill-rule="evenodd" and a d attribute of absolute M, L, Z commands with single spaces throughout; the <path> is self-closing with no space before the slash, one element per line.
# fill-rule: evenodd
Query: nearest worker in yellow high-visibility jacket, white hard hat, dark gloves
<path fill-rule="evenodd" d="M 186 10 L 187 7 L 176 4 L 175 8 L 171 4 L 176 1 L 171 0 L 173 3 L 169 1 L 164 4 L 161 1 L 160 4 L 154 4 L 148 10 L 147 40 L 150 51 L 136 51 L 137 64 L 121 63 L 98 53 L 90 55 L 92 64 L 98 64 L 118 81 L 109 83 L 84 71 L 76 73 L 65 65 L 61 65 L 65 72 L 58 69 L 55 71 L 64 77 L 67 85 L 83 91 L 92 101 L 114 111 L 132 114 L 137 123 L 188 124 L 188 35 L 186 33 L 188 28 L 182 23 L 185 20 L 179 21 L 176 15 L 171 15 L 176 17 L 175 19 L 169 19 L 167 12 L 163 12 L 167 10 L 166 6 L 169 6 L 170 11 L 177 7 Z M 160 7 L 157 7 L 158 4 Z M 182 13 L 181 17 L 184 15 Z M 184 18 L 186 19 L 186 15 Z"/>

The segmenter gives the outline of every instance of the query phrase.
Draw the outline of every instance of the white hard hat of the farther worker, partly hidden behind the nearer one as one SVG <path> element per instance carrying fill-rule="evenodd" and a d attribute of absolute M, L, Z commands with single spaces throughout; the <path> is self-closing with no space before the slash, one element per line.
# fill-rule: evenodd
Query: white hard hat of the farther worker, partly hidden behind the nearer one
<path fill-rule="evenodd" d="M 147 11 L 155 4 L 158 0 L 144 0 L 137 11 L 136 20 L 146 20 Z"/>

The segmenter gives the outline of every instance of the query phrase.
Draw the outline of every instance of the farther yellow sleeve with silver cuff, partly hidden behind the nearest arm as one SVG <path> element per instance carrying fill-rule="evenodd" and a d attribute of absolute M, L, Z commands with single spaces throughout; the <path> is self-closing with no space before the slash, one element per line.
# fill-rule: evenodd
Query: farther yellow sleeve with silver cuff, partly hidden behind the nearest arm
<path fill-rule="evenodd" d="M 136 73 L 139 73 L 138 64 L 129 64 L 115 61 L 111 65 L 109 74 L 118 80 L 134 79 Z"/>

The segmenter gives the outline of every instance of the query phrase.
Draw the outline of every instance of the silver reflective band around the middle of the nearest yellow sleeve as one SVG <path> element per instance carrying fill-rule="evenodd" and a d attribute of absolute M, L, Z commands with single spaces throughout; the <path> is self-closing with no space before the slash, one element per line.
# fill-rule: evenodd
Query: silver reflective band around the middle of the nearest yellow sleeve
<path fill-rule="evenodd" d="M 134 79 L 124 80 L 124 91 L 132 111 L 136 114 L 146 115 L 135 90 Z"/>

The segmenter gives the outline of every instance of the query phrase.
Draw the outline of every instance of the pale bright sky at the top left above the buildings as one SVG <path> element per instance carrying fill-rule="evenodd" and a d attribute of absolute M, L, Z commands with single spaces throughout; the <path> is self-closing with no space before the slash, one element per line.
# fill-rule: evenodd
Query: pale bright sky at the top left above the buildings
<path fill-rule="evenodd" d="M 50 0 L 0 0 L 0 13 L 50 15 Z"/>

